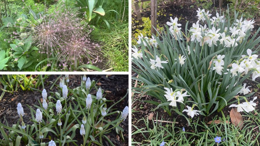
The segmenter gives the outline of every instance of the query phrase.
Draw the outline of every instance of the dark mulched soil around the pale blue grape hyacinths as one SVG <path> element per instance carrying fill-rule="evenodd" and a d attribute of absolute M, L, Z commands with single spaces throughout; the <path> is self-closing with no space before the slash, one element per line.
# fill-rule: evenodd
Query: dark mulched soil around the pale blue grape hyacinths
<path fill-rule="evenodd" d="M 52 90 L 49 88 L 51 87 L 52 83 L 57 79 L 59 75 L 50 75 L 45 80 L 45 89 L 48 92 L 56 92 L 58 91 L 58 86 L 54 86 Z M 107 76 L 107 77 L 106 77 Z M 1 77 L 1 76 L 0 76 Z M 33 76 L 36 77 L 36 76 Z M 106 99 L 107 100 L 114 100 L 114 102 L 107 103 L 108 106 L 111 106 L 116 101 L 120 100 L 125 94 L 127 93 L 128 89 L 128 75 L 87 75 L 87 77 L 90 77 L 91 80 L 95 80 L 98 85 L 101 86 L 102 89 L 104 89 L 106 93 Z M 81 75 L 69 75 L 69 88 L 80 86 L 81 83 Z M 59 84 L 59 81 L 56 83 Z M 39 90 L 43 90 L 42 87 L 38 87 Z M 0 91 L 0 94 L 2 91 Z M 96 91 L 91 91 L 91 94 L 96 94 Z M 127 96 L 128 97 L 128 96 Z M 11 93 L 5 93 L 2 100 L 0 101 L 0 122 L 9 126 L 13 124 L 17 124 L 19 119 L 19 116 L 17 115 L 17 103 L 21 103 L 22 105 L 29 105 L 32 107 L 32 109 L 36 110 L 36 107 L 34 105 L 39 106 L 38 100 L 42 98 L 41 93 L 37 92 L 35 90 L 30 91 L 22 91 L 21 88 L 17 92 Z M 115 108 L 117 108 L 119 111 L 122 111 L 125 106 L 128 105 L 128 98 L 125 98 L 120 103 L 117 104 Z M 32 124 L 33 122 L 30 121 L 31 114 L 30 109 L 27 106 L 23 106 L 24 108 L 24 122 L 26 124 Z M 111 121 L 116 118 L 115 115 L 107 116 L 107 119 L 110 119 Z M 4 120 L 6 119 L 6 120 Z M 6 123 L 7 122 L 7 123 Z M 120 127 L 124 129 L 124 141 L 121 140 L 121 138 L 118 138 L 118 134 L 116 134 L 115 130 L 112 130 L 109 134 L 106 134 L 108 138 L 115 144 L 115 145 L 128 145 L 128 118 L 120 123 Z M 52 133 L 50 133 L 50 136 Z M 52 135 L 54 137 L 54 135 Z M 0 138 L 3 137 L 0 135 Z M 119 139 L 119 140 L 118 140 Z M 79 129 L 76 133 L 75 140 L 78 145 L 80 145 L 82 141 L 82 136 L 79 134 Z M 99 138 L 97 139 L 99 140 Z M 48 142 L 48 139 L 43 140 L 45 142 Z M 95 145 L 95 144 L 93 144 Z M 103 145 L 109 146 L 110 144 L 103 139 Z"/>

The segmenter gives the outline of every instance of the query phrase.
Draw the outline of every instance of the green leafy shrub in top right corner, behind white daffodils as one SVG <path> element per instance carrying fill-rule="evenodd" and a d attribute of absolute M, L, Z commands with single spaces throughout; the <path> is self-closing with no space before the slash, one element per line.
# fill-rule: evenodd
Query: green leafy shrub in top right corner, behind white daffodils
<path fill-rule="evenodd" d="M 233 15 L 234 11 L 243 14 L 245 18 L 253 18 L 254 15 L 259 15 L 259 6 L 260 0 L 244 0 L 244 1 L 237 1 L 237 0 L 228 0 L 231 3 L 229 4 L 230 14 Z"/>

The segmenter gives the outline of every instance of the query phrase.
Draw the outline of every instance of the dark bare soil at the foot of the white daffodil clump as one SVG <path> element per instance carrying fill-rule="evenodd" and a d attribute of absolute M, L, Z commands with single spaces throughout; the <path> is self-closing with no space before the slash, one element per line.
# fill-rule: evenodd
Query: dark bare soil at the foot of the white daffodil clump
<path fill-rule="evenodd" d="M 259 83 L 260 79 L 257 78 L 256 82 Z M 132 82 L 132 83 L 134 84 L 134 82 Z M 250 87 L 251 92 L 254 92 L 253 89 L 257 89 L 257 92 L 249 98 L 249 101 L 252 100 L 253 97 L 257 96 L 257 99 L 254 102 L 257 103 L 257 106 L 255 107 L 255 109 L 257 111 L 259 111 L 260 110 L 260 104 L 259 104 L 260 103 L 260 89 L 258 89 L 257 84 L 254 81 L 250 81 L 250 80 L 247 79 L 244 83 L 247 83 L 247 86 L 251 86 Z M 151 97 L 151 96 L 148 96 L 148 95 L 144 95 L 143 97 L 140 97 L 140 94 L 136 94 L 134 96 L 134 99 L 140 99 L 140 101 L 150 100 L 150 101 L 156 101 L 156 102 L 160 103 L 160 101 L 157 98 Z M 165 112 L 164 109 L 162 109 L 162 108 L 158 108 L 155 111 L 151 111 L 152 109 L 155 109 L 157 106 L 150 104 L 150 103 L 143 103 L 143 102 L 140 102 L 139 100 L 137 100 L 137 101 L 138 102 L 135 102 L 132 105 L 132 110 L 137 111 L 137 112 L 134 112 L 132 114 L 132 124 L 135 125 L 136 127 L 138 127 L 139 129 L 146 127 L 145 123 L 141 119 L 144 118 L 145 120 L 147 120 L 148 115 L 150 113 L 154 113 L 153 120 L 156 119 L 156 116 L 158 116 L 158 120 L 164 120 L 164 121 L 174 121 L 174 119 L 175 119 L 176 122 L 179 122 L 178 124 L 175 124 L 176 127 L 180 127 L 180 128 L 185 127 L 186 132 L 194 132 L 192 130 L 192 128 L 189 128 L 187 120 L 183 116 L 178 115 L 176 112 L 172 111 L 171 116 L 169 116 L 169 114 L 167 114 L 167 112 Z M 234 104 L 237 104 L 237 103 L 234 103 Z M 191 106 L 191 105 L 189 105 L 189 106 Z M 222 112 L 224 113 L 225 117 L 230 115 L 231 109 L 232 108 L 229 108 L 228 106 L 226 106 L 222 109 Z M 213 110 L 213 108 L 211 110 Z M 244 112 L 240 112 L 240 113 L 241 113 L 242 116 L 246 115 Z M 186 117 L 190 118 L 190 116 L 188 116 L 186 112 L 184 112 L 183 114 Z M 203 116 L 203 115 L 194 116 L 190 123 L 192 123 L 192 122 L 196 123 L 196 121 L 198 119 L 199 119 L 199 122 L 198 122 L 199 124 L 202 124 L 200 121 L 205 121 L 205 123 L 207 123 L 209 121 L 214 120 L 214 118 L 215 118 L 215 120 L 218 120 L 219 117 L 221 117 L 221 118 L 223 117 L 222 113 L 215 111 L 214 113 L 212 113 L 209 116 Z M 243 117 L 244 121 L 246 119 L 247 119 L 247 117 Z M 230 124 L 232 124 L 232 123 L 230 123 Z M 162 123 L 162 125 L 166 125 L 166 123 Z M 254 125 L 255 125 L 254 127 L 257 127 L 256 123 Z M 154 125 L 153 125 L 153 122 L 151 120 L 151 121 L 149 121 L 149 128 L 153 129 L 153 127 L 154 127 Z M 132 132 L 137 130 L 135 127 L 132 127 L 131 129 L 132 129 Z M 206 129 L 199 129 L 198 132 L 202 132 L 203 130 L 206 130 Z M 259 133 L 259 128 L 254 129 L 252 133 L 255 133 L 257 135 L 257 133 Z M 143 133 L 143 134 L 146 137 L 149 137 L 148 133 Z M 133 135 L 132 139 L 133 139 L 133 141 L 141 143 L 141 142 L 144 142 L 143 140 L 145 138 L 143 137 L 143 135 L 141 133 L 138 133 L 138 134 Z M 255 136 L 252 137 L 252 140 L 254 140 L 254 139 L 255 139 Z M 260 141 L 260 137 L 258 137 L 257 140 Z M 147 142 L 144 142 L 144 143 L 147 143 Z"/>

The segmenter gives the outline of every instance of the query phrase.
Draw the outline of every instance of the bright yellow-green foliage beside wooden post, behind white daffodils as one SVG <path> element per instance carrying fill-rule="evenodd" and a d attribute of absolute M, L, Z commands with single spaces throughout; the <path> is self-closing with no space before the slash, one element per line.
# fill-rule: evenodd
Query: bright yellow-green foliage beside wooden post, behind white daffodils
<path fill-rule="evenodd" d="M 138 35 L 143 34 L 144 36 L 147 36 L 151 38 L 151 20 L 149 17 L 142 17 L 142 21 L 144 22 L 142 25 L 135 26 L 136 30 L 133 32 L 133 36 L 135 38 L 138 37 Z M 137 23 L 138 21 L 136 21 Z M 163 30 L 163 27 L 159 27 L 157 23 L 157 30 L 161 32 Z M 136 40 L 132 41 L 132 45 L 136 44 Z"/>

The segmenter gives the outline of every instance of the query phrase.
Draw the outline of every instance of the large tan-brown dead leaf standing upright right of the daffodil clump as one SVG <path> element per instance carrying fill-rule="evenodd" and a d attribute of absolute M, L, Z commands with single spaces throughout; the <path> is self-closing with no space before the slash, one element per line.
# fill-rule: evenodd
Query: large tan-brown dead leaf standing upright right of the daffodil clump
<path fill-rule="evenodd" d="M 239 129 L 241 130 L 244 124 L 243 117 L 240 114 L 240 112 L 237 112 L 236 108 L 232 108 L 230 111 L 230 119 L 232 124 L 234 124 L 236 127 L 239 126 Z"/>

